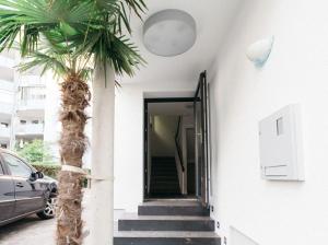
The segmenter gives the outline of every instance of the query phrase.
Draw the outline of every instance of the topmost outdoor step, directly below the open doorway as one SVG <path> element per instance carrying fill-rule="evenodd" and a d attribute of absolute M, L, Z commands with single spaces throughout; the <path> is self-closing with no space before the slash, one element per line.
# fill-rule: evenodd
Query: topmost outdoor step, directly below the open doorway
<path fill-rule="evenodd" d="M 149 201 L 138 207 L 139 215 L 194 215 L 209 217 L 210 210 L 204 209 L 196 200 L 161 200 Z"/>

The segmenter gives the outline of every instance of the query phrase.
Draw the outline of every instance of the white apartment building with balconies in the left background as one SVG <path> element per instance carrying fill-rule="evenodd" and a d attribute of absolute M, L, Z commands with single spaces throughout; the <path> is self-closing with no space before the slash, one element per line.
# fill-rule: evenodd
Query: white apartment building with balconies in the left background
<path fill-rule="evenodd" d="M 13 51 L 0 56 L 0 143 L 13 149 L 34 139 L 44 139 L 45 80 L 35 69 L 17 71 Z"/>

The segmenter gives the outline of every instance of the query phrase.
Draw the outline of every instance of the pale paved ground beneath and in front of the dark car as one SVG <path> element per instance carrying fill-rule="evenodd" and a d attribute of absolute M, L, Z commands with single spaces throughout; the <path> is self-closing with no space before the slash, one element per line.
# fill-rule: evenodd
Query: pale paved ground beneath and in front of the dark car
<path fill-rule="evenodd" d="M 84 203 L 89 194 L 84 195 Z M 84 205 L 85 207 L 85 205 Z M 84 218 L 89 211 L 85 207 Z M 85 220 L 85 219 L 84 219 Z M 56 220 L 40 220 L 37 215 L 24 218 L 0 228 L 0 245 L 55 245 Z M 89 245 L 87 238 L 84 242 Z"/>

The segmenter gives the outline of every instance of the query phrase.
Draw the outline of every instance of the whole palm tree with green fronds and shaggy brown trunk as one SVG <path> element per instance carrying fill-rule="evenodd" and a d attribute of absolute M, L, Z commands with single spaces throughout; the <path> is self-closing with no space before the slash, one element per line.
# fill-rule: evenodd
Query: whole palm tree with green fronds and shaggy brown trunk
<path fill-rule="evenodd" d="M 43 67 L 43 73 L 51 70 L 61 79 L 58 245 L 83 240 L 81 166 L 91 68 L 105 72 L 110 66 L 133 75 L 144 61 L 122 33 L 131 33 L 129 13 L 140 18 L 144 10 L 143 0 L 0 0 L 0 51 L 17 47 L 22 71 Z"/>

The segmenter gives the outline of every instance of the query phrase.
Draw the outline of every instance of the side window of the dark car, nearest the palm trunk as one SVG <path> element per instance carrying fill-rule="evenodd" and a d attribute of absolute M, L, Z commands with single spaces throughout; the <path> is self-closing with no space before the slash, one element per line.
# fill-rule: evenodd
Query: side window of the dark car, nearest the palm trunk
<path fill-rule="evenodd" d="M 2 156 L 12 175 L 30 177 L 32 170 L 24 162 L 11 154 L 2 153 Z"/>

